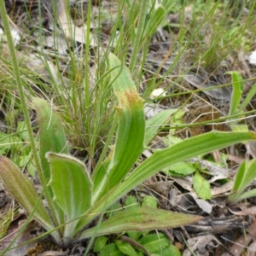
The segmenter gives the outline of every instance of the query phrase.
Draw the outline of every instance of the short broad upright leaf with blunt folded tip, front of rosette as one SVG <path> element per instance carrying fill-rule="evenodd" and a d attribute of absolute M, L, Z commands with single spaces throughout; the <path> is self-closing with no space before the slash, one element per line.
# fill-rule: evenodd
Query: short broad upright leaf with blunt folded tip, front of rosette
<path fill-rule="evenodd" d="M 54 201 L 65 213 L 69 222 L 84 214 L 91 205 L 92 183 L 84 164 L 67 154 L 47 153 L 51 177 L 49 186 L 54 192 Z M 79 219 L 65 226 L 64 237 L 73 237 L 79 230 Z"/>

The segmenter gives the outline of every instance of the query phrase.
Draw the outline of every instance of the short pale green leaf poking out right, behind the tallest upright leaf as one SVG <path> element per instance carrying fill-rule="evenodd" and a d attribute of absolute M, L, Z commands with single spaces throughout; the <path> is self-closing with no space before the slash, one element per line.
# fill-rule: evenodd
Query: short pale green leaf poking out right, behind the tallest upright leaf
<path fill-rule="evenodd" d="M 144 145 L 147 146 L 154 137 L 157 135 L 160 127 L 165 124 L 166 120 L 170 118 L 172 113 L 176 113 L 177 109 L 167 109 L 165 111 L 161 111 L 146 121 L 146 131 L 145 131 L 145 138 L 144 138 Z"/>

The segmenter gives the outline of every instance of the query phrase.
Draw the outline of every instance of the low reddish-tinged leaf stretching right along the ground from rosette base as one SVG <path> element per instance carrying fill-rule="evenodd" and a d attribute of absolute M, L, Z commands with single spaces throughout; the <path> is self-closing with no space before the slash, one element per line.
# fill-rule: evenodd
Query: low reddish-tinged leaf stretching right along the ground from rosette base
<path fill-rule="evenodd" d="M 104 236 L 128 230 L 163 230 L 191 224 L 201 216 L 170 212 L 149 207 L 125 209 L 124 212 L 108 218 L 100 227 L 85 230 L 79 239 L 93 236 Z"/>

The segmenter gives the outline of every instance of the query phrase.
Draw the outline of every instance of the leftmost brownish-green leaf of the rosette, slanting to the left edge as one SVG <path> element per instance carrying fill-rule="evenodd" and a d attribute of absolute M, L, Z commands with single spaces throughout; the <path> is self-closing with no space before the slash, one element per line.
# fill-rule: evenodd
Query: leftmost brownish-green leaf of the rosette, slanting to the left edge
<path fill-rule="evenodd" d="M 15 200 L 20 203 L 26 212 L 31 213 L 39 199 L 31 180 L 20 171 L 18 166 L 15 166 L 11 160 L 4 156 L 0 156 L 0 175 L 11 195 L 15 197 Z M 53 230 L 55 228 L 42 202 L 38 204 L 33 218 L 45 230 Z M 51 235 L 56 242 L 61 241 L 58 231 L 52 232 Z"/>

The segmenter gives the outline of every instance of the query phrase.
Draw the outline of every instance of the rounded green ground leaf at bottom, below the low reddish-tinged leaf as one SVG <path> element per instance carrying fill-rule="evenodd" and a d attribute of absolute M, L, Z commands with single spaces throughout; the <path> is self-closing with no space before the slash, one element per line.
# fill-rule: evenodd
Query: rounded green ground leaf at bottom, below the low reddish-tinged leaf
<path fill-rule="evenodd" d="M 158 252 L 170 244 L 170 240 L 162 233 L 143 236 L 138 241 L 149 253 Z"/>

